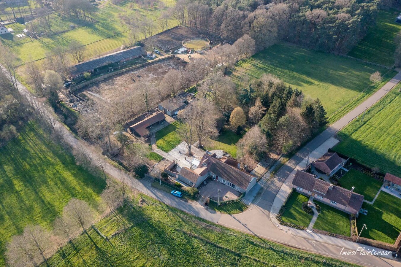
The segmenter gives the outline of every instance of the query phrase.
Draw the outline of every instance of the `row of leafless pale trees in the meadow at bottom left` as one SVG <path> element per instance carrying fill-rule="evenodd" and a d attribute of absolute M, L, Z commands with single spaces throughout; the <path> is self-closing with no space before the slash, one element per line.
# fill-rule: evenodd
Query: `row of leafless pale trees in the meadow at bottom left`
<path fill-rule="evenodd" d="M 126 229 L 127 225 L 116 213 L 116 209 L 124 203 L 128 197 L 128 177 L 122 176 L 118 183 L 108 182 L 101 194 L 103 206 L 117 218 L 118 222 Z M 47 264 L 53 253 L 62 253 L 63 246 L 70 243 L 75 247 L 73 238 L 79 233 L 85 233 L 95 246 L 88 233 L 88 229 L 97 217 L 97 212 L 84 200 L 71 198 L 63 208 L 60 217 L 53 222 L 53 231 L 49 231 L 40 225 L 28 225 L 20 235 L 13 236 L 7 244 L 7 262 L 11 266 L 39 266 Z"/>

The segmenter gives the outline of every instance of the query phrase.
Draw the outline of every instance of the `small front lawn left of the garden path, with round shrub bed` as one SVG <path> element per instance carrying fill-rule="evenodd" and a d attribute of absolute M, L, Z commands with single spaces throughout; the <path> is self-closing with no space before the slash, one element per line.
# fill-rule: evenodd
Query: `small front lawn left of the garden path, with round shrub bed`
<path fill-rule="evenodd" d="M 286 210 L 284 210 L 281 218 L 286 223 L 308 227 L 312 215 L 304 212 L 302 203 L 308 201 L 309 198 L 298 192 L 292 192 L 292 195 L 287 200 Z"/>

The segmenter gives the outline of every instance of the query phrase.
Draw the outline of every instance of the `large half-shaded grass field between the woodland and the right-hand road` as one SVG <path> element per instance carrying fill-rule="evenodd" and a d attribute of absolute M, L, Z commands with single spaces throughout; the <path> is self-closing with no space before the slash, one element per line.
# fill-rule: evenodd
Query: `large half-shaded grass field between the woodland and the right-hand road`
<path fill-rule="evenodd" d="M 369 77 L 375 71 L 384 74 L 388 69 L 281 43 L 240 61 L 232 77 L 239 83 L 241 76 L 245 74 L 250 79 L 255 79 L 264 73 L 271 73 L 292 87 L 302 90 L 307 97 L 318 97 L 330 116 L 365 88 L 370 87 Z M 395 73 L 391 72 L 389 76 L 392 78 Z M 376 88 L 379 86 L 381 85 Z M 370 88 L 360 97 L 373 91 L 375 88 Z M 358 101 L 353 102 L 352 107 L 357 105 Z M 330 122 L 334 121 L 330 119 Z"/>

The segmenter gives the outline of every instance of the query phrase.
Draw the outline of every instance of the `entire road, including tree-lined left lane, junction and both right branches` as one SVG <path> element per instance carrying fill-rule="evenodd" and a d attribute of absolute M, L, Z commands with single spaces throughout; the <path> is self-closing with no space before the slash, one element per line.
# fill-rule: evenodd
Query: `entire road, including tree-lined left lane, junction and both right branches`
<path fill-rule="evenodd" d="M 1 66 L 1 68 L 2 71 L 6 74 L 6 76 L 10 77 L 8 71 L 3 66 Z M 350 112 L 352 113 L 351 115 L 350 113 L 348 113 L 338 121 L 339 123 L 334 123 L 333 125 L 331 125 L 326 131 L 324 131 L 322 134 L 320 134 L 318 137 L 316 137 L 314 140 L 308 143 L 302 150 L 300 150 L 300 152 L 298 152 L 288 162 L 288 164 L 286 164 L 285 166 L 283 166 L 283 168 L 279 170 L 279 172 L 277 173 L 277 179 L 273 180 L 273 183 L 263 193 L 258 202 L 258 205 L 253 206 L 253 208 L 251 209 L 251 211 L 252 210 L 255 211 L 255 216 L 251 219 L 253 220 L 253 222 L 257 223 L 258 226 L 257 228 L 251 229 L 247 227 L 246 224 L 241 223 L 241 221 L 235 218 L 233 215 L 223 215 L 223 216 L 225 216 L 225 218 L 226 216 L 229 216 L 229 218 L 233 218 L 233 220 L 235 220 L 235 222 L 238 223 L 240 227 L 237 227 L 235 225 L 227 225 L 223 223 L 221 224 L 232 229 L 244 231 L 252 235 L 257 235 L 264 239 L 275 241 L 277 243 L 282 243 L 284 245 L 289 245 L 291 247 L 296 247 L 299 249 L 303 249 L 313 253 L 318 253 L 321 255 L 326 255 L 343 261 L 350 261 L 358 264 L 364 264 L 366 266 L 401 266 L 401 263 L 386 258 L 379 258 L 375 256 L 363 256 L 359 255 L 358 253 L 355 253 L 355 255 L 348 257 L 340 256 L 339 247 L 333 245 L 327 245 L 324 243 L 320 243 L 318 246 L 315 246 L 316 242 L 314 241 L 298 238 L 293 235 L 284 235 L 283 231 L 277 229 L 269 220 L 269 209 L 271 207 L 271 203 L 274 200 L 275 194 L 277 194 L 282 183 L 288 177 L 288 174 L 291 172 L 290 170 L 295 168 L 296 165 L 298 165 L 299 163 L 298 160 L 302 160 L 304 158 L 302 157 L 302 155 L 304 155 L 305 153 L 307 154 L 309 150 L 314 150 L 314 148 L 320 146 L 320 144 L 322 144 L 325 140 L 330 138 L 336 131 L 344 127 L 354 117 L 362 113 L 363 110 L 365 110 L 365 106 L 370 107 L 371 105 L 373 105 L 373 103 L 375 103 L 381 97 L 383 97 L 383 95 L 385 95 L 385 93 L 387 93 L 387 91 L 389 91 L 400 80 L 401 80 L 401 73 L 398 73 L 391 81 L 389 81 L 389 83 L 386 84 L 388 85 L 387 87 L 385 85 L 384 87 L 382 87 L 382 89 L 380 89 L 377 93 L 375 93 L 373 96 L 367 99 L 364 103 L 356 107 L 353 111 Z M 390 87 L 391 84 L 392 86 Z M 30 93 L 30 91 L 28 91 L 28 89 L 26 89 L 26 87 L 19 82 L 18 82 L 18 90 L 20 91 L 21 95 L 23 95 L 27 99 L 29 103 L 33 104 L 33 107 L 35 109 L 38 109 L 42 113 L 46 114 L 45 116 L 46 119 L 54 123 L 55 131 L 61 133 L 62 136 L 64 137 L 64 140 L 68 144 L 70 144 L 73 148 L 79 148 L 79 147 L 85 148 L 88 151 L 88 154 L 90 155 L 93 162 L 95 162 L 97 158 L 101 156 L 101 153 L 97 151 L 95 147 L 89 146 L 89 144 L 87 144 L 83 140 L 79 140 L 74 134 L 71 133 L 71 131 L 69 131 L 69 129 L 65 127 L 65 125 L 59 123 L 59 121 L 57 120 L 57 116 L 55 115 L 53 110 L 48 105 L 45 104 L 46 103 L 45 101 L 40 101 L 40 99 L 34 97 L 32 93 Z M 314 142 L 316 142 L 316 144 L 314 144 Z M 304 151 L 305 149 L 306 152 Z M 105 165 L 105 172 L 107 172 L 107 174 L 109 174 L 110 176 L 113 176 L 115 179 L 120 180 L 122 175 L 127 175 L 124 171 L 111 165 L 106 159 L 104 159 L 103 162 Z M 130 186 L 132 186 L 132 188 L 135 188 L 136 190 L 139 190 L 140 192 L 143 192 L 144 194 L 147 194 L 165 204 L 178 208 L 184 212 L 188 212 L 189 214 L 192 214 L 194 216 L 203 218 L 205 220 L 209 220 L 213 223 L 219 222 L 219 220 L 222 218 L 222 214 L 209 212 L 201 204 L 198 204 L 195 201 L 186 202 L 185 200 L 175 198 L 174 196 L 166 192 L 158 191 L 155 188 L 152 188 L 150 182 L 147 182 L 145 180 L 137 180 L 132 176 L 128 177 L 130 178 L 129 184 Z M 242 214 L 245 215 L 247 214 L 247 212 L 249 211 L 243 212 Z M 263 233 L 267 233 L 267 235 L 257 234 L 257 232 L 259 232 L 260 227 L 263 228 Z"/>

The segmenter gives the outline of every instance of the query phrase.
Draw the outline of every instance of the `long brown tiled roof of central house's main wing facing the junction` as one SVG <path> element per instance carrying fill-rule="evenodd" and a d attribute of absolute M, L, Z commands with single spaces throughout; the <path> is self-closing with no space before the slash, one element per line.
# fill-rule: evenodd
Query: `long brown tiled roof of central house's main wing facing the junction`
<path fill-rule="evenodd" d="M 203 163 L 206 163 L 207 168 L 220 178 L 223 178 L 224 180 L 231 182 L 244 190 L 248 188 L 249 183 L 254 177 L 243 170 L 235 168 L 207 154 L 203 156 L 198 168 L 205 167 L 203 166 Z"/>

